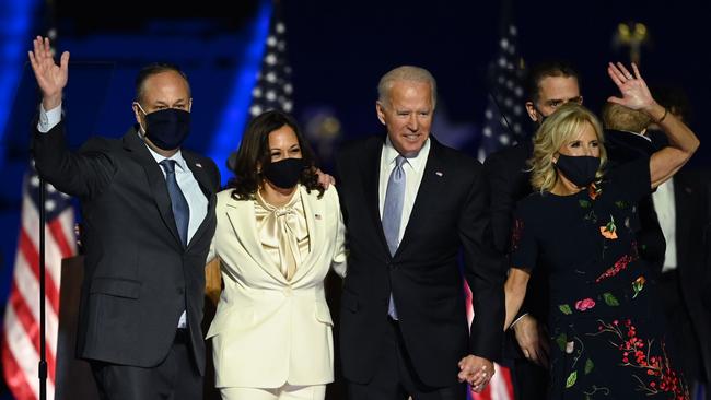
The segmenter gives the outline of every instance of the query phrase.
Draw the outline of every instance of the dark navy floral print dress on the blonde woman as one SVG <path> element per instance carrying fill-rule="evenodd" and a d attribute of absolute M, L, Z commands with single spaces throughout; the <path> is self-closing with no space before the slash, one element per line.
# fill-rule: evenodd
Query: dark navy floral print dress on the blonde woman
<path fill-rule="evenodd" d="M 634 232 L 650 193 L 649 158 L 571 196 L 535 192 L 514 220 L 514 268 L 550 284 L 548 399 L 688 399 Z"/>

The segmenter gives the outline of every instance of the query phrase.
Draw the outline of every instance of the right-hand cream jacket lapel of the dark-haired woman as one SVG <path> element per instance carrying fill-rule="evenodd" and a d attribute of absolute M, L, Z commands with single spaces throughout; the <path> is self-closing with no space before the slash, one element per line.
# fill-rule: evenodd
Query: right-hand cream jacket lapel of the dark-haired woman
<path fill-rule="evenodd" d="M 313 269 L 316 263 L 315 261 L 322 251 L 322 247 L 326 244 L 325 201 L 318 200 L 317 195 L 314 192 L 311 195 L 307 193 L 303 186 L 299 186 L 299 191 L 301 192 L 301 199 L 304 204 L 311 251 L 308 251 L 306 258 L 304 258 L 301 266 L 296 269 L 296 273 L 291 279 L 291 283 L 298 282 Z"/>

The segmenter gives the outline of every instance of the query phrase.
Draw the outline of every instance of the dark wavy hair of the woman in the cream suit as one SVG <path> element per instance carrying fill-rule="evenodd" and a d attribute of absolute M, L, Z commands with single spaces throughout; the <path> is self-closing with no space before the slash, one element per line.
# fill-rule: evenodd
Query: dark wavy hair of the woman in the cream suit
<path fill-rule="evenodd" d="M 269 110 L 254 118 L 247 126 L 247 130 L 242 137 L 237 157 L 234 163 L 234 177 L 230 179 L 226 188 L 232 189 L 232 198 L 235 200 L 253 200 L 255 193 L 264 180 L 264 176 L 258 170 L 258 165 L 271 163 L 269 153 L 269 133 L 278 130 L 283 126 L 289 126 L 296 134 L 301 156 L 304 160 L 304 168 L 299 183 L 306 187 L 306 190 L 318 191 L 318 197 L 324 195 L 324 188 L 318 184 L 318 175 L 314 161 L 314 152 L 301 134 L 301 130 L 292 116 L 280 110 Z"/>

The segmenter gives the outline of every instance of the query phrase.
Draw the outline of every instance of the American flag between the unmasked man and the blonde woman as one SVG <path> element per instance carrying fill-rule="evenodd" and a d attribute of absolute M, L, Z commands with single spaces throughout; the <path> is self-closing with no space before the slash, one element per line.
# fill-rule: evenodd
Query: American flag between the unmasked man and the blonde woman
<path fill-rule="evenodd" d="M 499 39 L 498 52 L 489 64 L 489 96 L 477 154 L 479 161 L 525 137 L 524 69 L 517 35 L 514 25 L 506 26 Z"/>

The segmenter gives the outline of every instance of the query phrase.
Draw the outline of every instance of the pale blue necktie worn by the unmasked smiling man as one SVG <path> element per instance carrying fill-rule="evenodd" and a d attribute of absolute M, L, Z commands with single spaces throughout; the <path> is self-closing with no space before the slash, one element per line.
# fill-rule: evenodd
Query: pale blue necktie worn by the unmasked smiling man
<path fill-rule="evenodd" d="M 383 233 L 387 247 L 391 250 L 391 256 L 395 256 L 397 247 L 400 245 L 400 220 L 403 219 L 403 203 L 405 201 L 405 169 L 403 165 L 407 160 L 398 155 L 395 158 L 395 168 L 387 179 L 387 191 L 385 192 L 385 204 L 383 205 Z M 397 319 L 397 310 L 395 309 L 395 302 L 393 301 L 393 292 L 391 292 L 391 301 L 387 305 L 387 314 Z"/>

